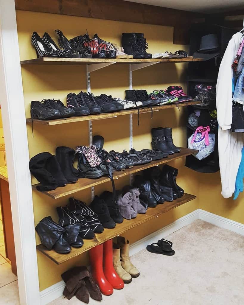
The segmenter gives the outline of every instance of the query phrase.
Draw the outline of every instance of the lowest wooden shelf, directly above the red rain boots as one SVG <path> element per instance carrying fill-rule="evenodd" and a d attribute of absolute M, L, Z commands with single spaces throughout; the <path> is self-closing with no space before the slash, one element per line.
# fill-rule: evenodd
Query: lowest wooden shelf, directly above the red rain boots
<path fill-rule="evenodd" d="M 180 206 L 181 204 L 187 203 L 193 199 L 195 199 L 196 196 L 190 195 L 190 194 L 184 194 L 181 198 L 175 199 L 173 202 L 165 202 L 163 204 L 158 204 L 155 208 L 148 208 L 147 212 L 145 214 L 138 214 L 136 218 L 127 220 L 124 219 L 122 224 L 116 224 L 116 227 L 113 229 L 104 229 L 104 231 L 101 234 L 95 234 L 94 239 L 84 239 L 84 245 L 81 248 L 73 248 L 68 254 L 60 254 L 55 252 L 54 250 L 48 251 L 46 247 L 44 247 L 42 244 L 37 246 L 37 249 L 45 254 L 47 257 L 49 257 L 51 260 L 53 260 L 56 264 L 62 264 L 66 262 L 67 260 L 76 257 L 91 248 L 102 244 L 103 242 L 106 242 L 109 239 L 112 239 L 118 235 L 123 234 L 127 230 L 130 230 L 131 228 L 134 228 L 140 224 L 143 224 L 145 221 L 149 221 L 155 217 L 158 217 L 159 215 L 168 212 L 169 210 L 172 210 L 176 208 L 177 206 Z"/>

